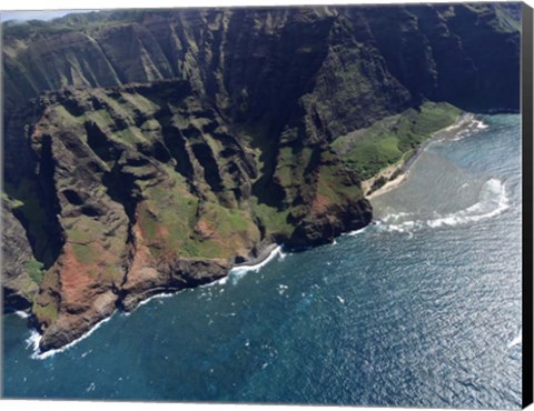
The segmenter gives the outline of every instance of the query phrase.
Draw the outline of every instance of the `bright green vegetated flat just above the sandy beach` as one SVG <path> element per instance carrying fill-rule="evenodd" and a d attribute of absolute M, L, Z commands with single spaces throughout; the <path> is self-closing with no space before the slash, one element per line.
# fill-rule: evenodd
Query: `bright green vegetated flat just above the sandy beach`
<path fill-rule="evenodd" d="M 448 103 L 425 102 L 419 110 L 408 109 L 368 129 L 339 137 L 332 147 L 366 180 L 406 158 L 434 132 L 453 124 L 459 113 L 459 109 Z"/>

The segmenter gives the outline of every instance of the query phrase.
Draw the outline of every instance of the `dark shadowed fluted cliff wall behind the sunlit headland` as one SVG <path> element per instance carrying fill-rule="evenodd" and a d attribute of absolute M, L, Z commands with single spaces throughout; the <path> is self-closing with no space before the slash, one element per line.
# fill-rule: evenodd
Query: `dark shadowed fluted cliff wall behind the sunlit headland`
<path fill-rule="evenodd" d="M 396 110 L 407 96 L 518 109 L 518 4 L 109 11 L 8 24 L 6 103 L 176 77 L 243 118 L 279 118 L 330 59 L 384 88 Z M 333 80 L 350 90 L 352 78 Z"/>

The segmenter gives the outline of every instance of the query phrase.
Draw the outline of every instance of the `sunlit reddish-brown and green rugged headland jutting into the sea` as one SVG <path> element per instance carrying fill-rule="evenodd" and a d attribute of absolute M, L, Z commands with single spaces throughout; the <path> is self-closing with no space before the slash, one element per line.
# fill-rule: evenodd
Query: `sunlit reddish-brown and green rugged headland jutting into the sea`
<path fill-rule="evenodd" d="M 49 197 L 61 239 L 32 298 L 43 350 L 116 307 L 131 310 L 155 293 L 220 278 L 271 242 L 319 244 L 370 220 L 354 172 L 307 147 L 307 178 L 295 188 L 307 198 L 260 203 L 251 137 L 182 80 L 52 92 L 33 110 L 37 121 L 12 121 L 9 133 L 26 139 L 22 178 Z M 19 198 L 24 204 L 34 192 Z M 34 247 L 44 235 L 28 232 Z"/>

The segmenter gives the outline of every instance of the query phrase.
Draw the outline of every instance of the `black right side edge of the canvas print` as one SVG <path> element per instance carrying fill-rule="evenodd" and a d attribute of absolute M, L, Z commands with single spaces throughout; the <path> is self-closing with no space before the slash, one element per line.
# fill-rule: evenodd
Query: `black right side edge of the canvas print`
<path fill-rule="evenodd" d="M 522 407 L 533 402 L 533 9 L 522 3 L 521 80 L 523 141 L 523 392 Z"/>

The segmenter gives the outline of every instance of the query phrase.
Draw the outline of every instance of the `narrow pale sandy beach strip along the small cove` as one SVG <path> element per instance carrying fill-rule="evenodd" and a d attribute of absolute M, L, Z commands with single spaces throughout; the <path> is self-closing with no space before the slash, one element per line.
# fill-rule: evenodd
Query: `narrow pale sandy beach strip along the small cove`
<path fill-rule="evenodd" d="M 463 112 L 458 116 L 458 119 L 451 126 L 437 130 L 432 136 L 426 139 L 423 143 L 414 149 L 412 153 L 409 153 L 406 158 L 402 158 L 396 163 L 388 166 L 387 168 L 379 171 L 376 176 L 372 177 L 370 179 L 362 181 L 362 190 L 364 191 L 364 196 L 367 200 L 372 200 L 377 196 L 382 196 L 397 187 L 399 187 L 408 177 L 409 169 L 415 164 L 417 159 L 421 154 L 425 151 L 425 149 L 435 141 L 449 137 L 451 133 L 456 133 L 462 131 L 464 128 L 467 128 L 473 121 L 475 117 L 473 113 Z M 394 174 L 396 174 L 394 177 Z M 384 178 L 387 182 L 378 188 L 369 192 L 370 188 L 378 179 Z"/>

